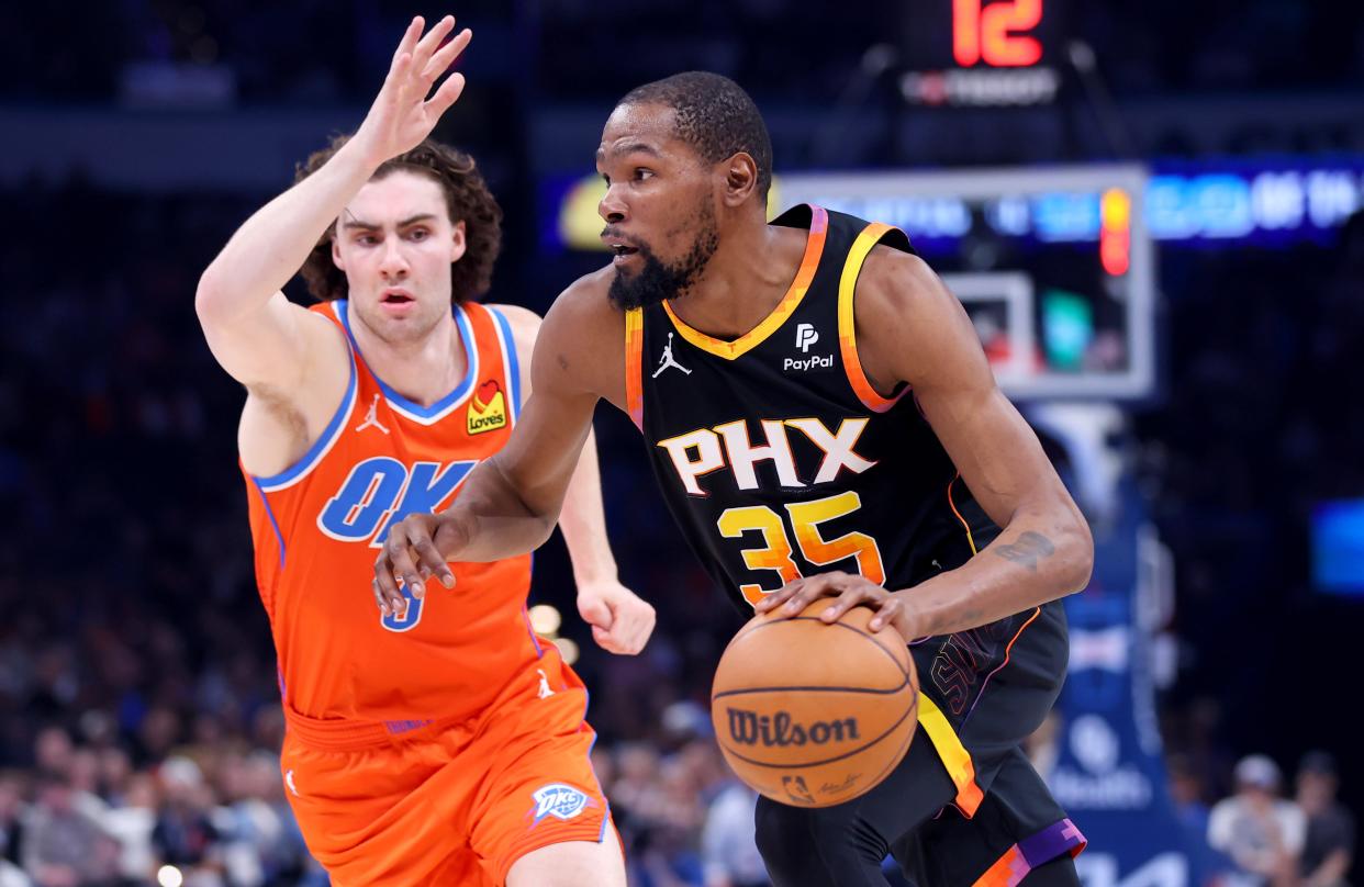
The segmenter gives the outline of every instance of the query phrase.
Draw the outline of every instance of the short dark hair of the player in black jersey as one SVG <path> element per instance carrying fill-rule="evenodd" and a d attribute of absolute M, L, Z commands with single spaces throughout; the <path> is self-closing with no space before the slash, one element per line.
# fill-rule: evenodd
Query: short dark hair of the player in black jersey
<path fill-rule="evenodd" d="M 666 105 L 678 138 L 708 164 L 739 151 L 758 166 L 758 195 L 772 184 L 772 136 L 743 87 L 709 71 L 686 71 L 630 90 L 618 105 Z"/>

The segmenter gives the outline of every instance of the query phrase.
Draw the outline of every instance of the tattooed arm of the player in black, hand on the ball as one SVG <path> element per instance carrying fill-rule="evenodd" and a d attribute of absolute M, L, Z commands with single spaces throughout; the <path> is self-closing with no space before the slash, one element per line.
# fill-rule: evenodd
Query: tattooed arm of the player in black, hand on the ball
<path fill-rule="evenodd" d="M 847 608 L 881 608 L 873 629 L 893 623 L 906 638 L 975 628 L 1083 589 L 1094 542 L 1037 435 L 994 383 L 960 302 L 919 258 L 877 248 L 857 285 L 857 343 L 869 382 L 899 383 L 943 441 L 962 480 L 1001 531 L 956 570 L 888 593 L 861 576 L 799 579 L 758 605 L 801 610 L 817 597 L 829 621 Z"/>

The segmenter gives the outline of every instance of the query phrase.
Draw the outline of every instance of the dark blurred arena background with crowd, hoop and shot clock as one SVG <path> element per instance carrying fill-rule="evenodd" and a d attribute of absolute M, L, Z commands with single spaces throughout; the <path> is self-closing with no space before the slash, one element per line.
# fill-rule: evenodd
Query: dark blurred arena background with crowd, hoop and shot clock
<path fill-rule="evenodd" d="M 109 0 L 0 10 L 0 886 L 326 883 L 194 296 L 446 11 L 475 42 L 435 136 L 506 211 L 492 301 L 543 313 L 606 262 L 602 123 L 685 69 L 753 94 L 773 213 L 900 226 L 963 301 L 1095 535 L 1030 743 L 1087 887 L 1364 877 L 1364 5 Z M 558 537 L 535 627 L 592 691 L 632 884 L 765 883 L 707 709 L 742 620 L 630 421 L 596 429 L 657 629 L 597 649 Z M 1256 786 L 1277 818 L 1219 824 Z M 1240 871 L 1264 842 L 1277 873 Z"/>

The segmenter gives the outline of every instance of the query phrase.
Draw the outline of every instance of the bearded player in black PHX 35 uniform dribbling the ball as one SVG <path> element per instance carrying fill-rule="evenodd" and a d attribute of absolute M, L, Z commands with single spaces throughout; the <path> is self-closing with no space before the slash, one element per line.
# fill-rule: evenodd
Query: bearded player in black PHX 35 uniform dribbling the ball
<path fill-rule="evenodd" d="M 893 228 L 809 206 L 768 223 L 767 128 L 722 76 L 627 94 L 597 169 L 611 266 L 544 319 L 506 448 L 451 510 L 393 529 L 376 600 L 544 542 L 607 399 L 741 609 L 828 597 L 827 621 L 870 606 L 911 644 L 904 762 L 842 805 L 761 800 L 772 880 L 884 887 L 891 853 L 918 887 L 1076 884 L 1084 839 L 1019 744 L 1060 691 L 1058 598 L 1093 542 L 960 304 Z"/>

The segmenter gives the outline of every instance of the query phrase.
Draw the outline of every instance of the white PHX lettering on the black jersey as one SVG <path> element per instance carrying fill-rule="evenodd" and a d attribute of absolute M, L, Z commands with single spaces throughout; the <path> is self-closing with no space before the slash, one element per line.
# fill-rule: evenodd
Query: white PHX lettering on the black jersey
<path fill-rule="evenodd" d="M 817 418 L 762 420 L 762 435 L 767 437 L 767 443 L 753 446 L 749 439 L 747 422 L 738 420 L 668 437 L 660 440 L 657 446 L 668 452 L 682 486 L 692 496 L 709 496 L 697 484 L 697 478 L 724 466 L 730 466 L 730 470 L 734 471 L 734 481 L 739 489 L 757 489 L 758 478 L 753 466 L 764 459 L 772 461 L 782 486 L 814 486 L 828 484 L 839 476 L 842 469 L 861 474 L 876 465 L 876 462 L 863 459 L 853 451 L 868 421 L 870 420 L 846 418 L 839 424 L 837 432 L 831 432 Z M 787 428 L 797 429 L 824 451 L 820 470 L 809 481 L 802 481 L 797 476 L 795 456 L 791 452 L 791 441 L 787 439 Z"/>

